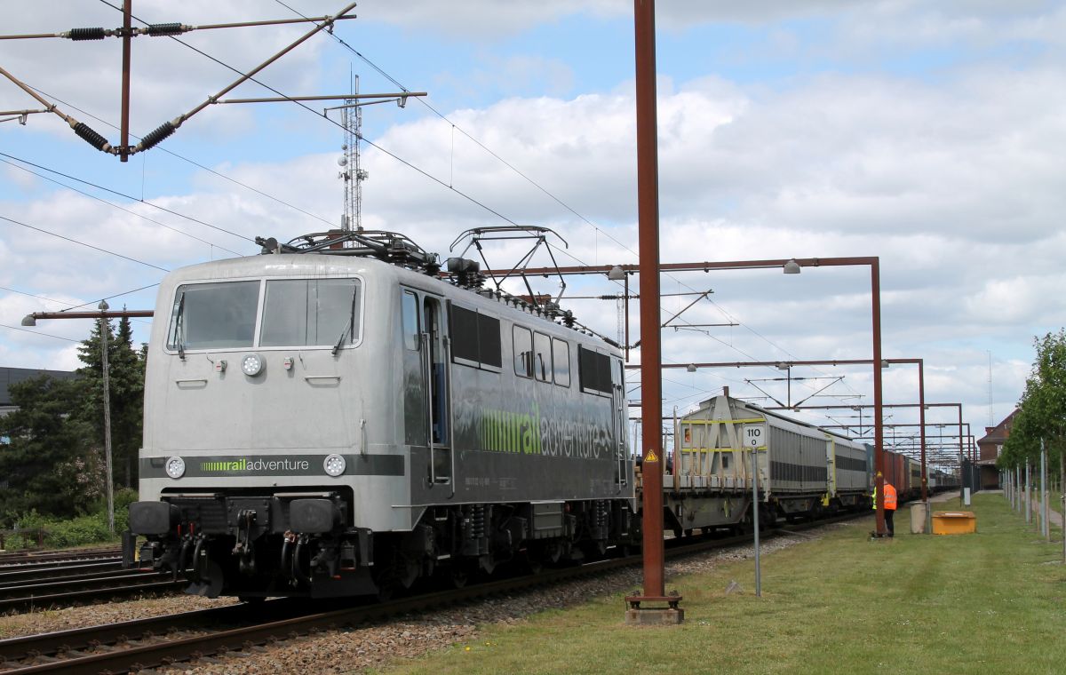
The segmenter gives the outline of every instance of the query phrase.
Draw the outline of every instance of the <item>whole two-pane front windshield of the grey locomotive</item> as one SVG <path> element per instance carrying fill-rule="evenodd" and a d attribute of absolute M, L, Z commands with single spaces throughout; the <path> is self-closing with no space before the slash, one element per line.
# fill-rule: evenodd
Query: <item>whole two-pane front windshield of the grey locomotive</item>
<path fill-rule="evenodd" d="M 272 279 L 187 284 L 174 295 L 167 349 L 334 347 L 359 335 L 359 280 Z M 262 316 L 259 296 L 264 294 Z"/>

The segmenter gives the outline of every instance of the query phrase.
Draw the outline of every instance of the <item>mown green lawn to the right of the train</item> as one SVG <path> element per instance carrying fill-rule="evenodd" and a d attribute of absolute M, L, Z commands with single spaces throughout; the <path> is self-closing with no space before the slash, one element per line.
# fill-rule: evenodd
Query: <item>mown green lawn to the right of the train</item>
<path fill-rule="evenodd" d="M 949 507 L 950 508 L 950 507 Z M 936 505 L 934 505 L 936 509 Z M 978 494 L 978 533 L 869 541 L 872 519 L 754 563 L 673 578 L 680 626 L 624 623 L 624 594 L 397 662 L 384 673 L 1061 673 L 1062 543 L 1027 530 L 999 494 Z M 731 580 L 744 592 L 725 595 Z"/>

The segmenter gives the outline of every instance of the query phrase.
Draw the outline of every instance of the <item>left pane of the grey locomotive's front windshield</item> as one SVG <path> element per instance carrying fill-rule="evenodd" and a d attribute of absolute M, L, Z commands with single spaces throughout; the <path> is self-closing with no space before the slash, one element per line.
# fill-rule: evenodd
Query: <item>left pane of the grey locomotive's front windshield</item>
<path fill-rule="evenodd" d="M 166 348 L 183 351 L 252 347 L 258 304 L 259 282 L 179 286 Z"/>

